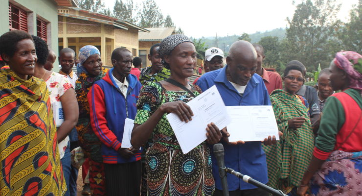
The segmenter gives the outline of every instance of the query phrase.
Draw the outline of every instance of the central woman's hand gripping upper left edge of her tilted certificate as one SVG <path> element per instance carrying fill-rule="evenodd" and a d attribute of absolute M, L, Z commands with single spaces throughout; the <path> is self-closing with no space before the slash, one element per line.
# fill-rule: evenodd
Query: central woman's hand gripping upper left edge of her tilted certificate
<path fill-rule="evenodd" d="M 161 105 L 160 109 L 164 113 L 167 113 L 167 114 L 169 114 L 169 113 L 176 114 L 177 116 L 179 116 L 181 121 L 184 121 L 186 123 L 191 121 L 192 120 L 191 117 L 194 116 L 190 106 L 188 106 L 183 101 L 174 101 L 174 102 L 163 103 Z"/>

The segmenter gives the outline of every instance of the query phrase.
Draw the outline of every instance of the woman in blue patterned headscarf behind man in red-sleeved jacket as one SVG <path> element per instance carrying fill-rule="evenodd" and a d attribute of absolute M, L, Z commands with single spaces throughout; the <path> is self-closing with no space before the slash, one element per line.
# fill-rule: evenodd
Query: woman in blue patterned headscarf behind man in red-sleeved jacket
<path fill-rule="evenodd" d="M 78 80 L 75 82 L 75 92 L 79 105 L 79 119 L 75 128 L 78 132 L 79 144 L 90 158 L 89 180 L 92 195 L 104 196 L 106 189 L 101 142 L 91 128 L 87 95 L 94 82 L 105 76 L 108 70 L 102 68 L 100 52 L 94 46 L 81 48 L 78 59 L 80 63 L 77 65 Z"/>

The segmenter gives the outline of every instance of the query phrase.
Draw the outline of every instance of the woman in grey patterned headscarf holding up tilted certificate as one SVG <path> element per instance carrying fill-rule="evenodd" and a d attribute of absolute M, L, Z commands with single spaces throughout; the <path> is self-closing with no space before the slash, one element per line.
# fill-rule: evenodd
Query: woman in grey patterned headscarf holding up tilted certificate
<path fill-rule="evenodd" d="M 171 75 L 143 86 L 131 138 L 135 148 L 143 146 L 150 137 L 154 141 L 146 153 L 148 194 L 211 196 L 215 185 L 206 142 L 220 141 L 222 135 L 218 127 L 208 124 L 206 142 L 183 154 L 166 119 L 166 114 L 175 113 L 181 121 L 192 120 L 193 113 L 185 103 L 201 94 L 198 86 L 187 82 L 196 67 L 195 46 L 188 37 L 176 34 L 162 40 L 158 53 Z"/>

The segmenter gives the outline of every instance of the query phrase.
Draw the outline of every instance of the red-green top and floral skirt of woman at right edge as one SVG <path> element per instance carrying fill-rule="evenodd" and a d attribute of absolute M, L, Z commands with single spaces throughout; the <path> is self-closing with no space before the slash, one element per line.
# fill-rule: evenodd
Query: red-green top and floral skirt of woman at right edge
<path fill-rule="evenodd" d="M 325 160 L 311 179 L 311 196 L 362 195 L 362 97 L 346 89 L 326 99 L 313 155 Z"/>

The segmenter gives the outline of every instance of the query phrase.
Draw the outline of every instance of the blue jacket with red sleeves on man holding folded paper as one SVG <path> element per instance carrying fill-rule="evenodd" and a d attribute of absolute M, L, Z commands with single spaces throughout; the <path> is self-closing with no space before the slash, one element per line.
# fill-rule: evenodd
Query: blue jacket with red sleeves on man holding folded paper
<path fill-rule="evenodd" d="M 88 93 L 91 126 L 102 142 L 103 163 L 130 163 L 141 159 L 141 150 L 126 159 L 117 150 L 121 147 L 126 118 L 135 119 L 136 102 L 141 83 L 133 74 L 127 76 L 129 83 L 126 98 L 115 83 L 111 69 L 102 79 L 96 81 Z M 128 116 L 128 117 L 127 117 Z"/>

